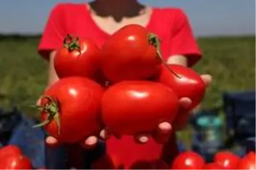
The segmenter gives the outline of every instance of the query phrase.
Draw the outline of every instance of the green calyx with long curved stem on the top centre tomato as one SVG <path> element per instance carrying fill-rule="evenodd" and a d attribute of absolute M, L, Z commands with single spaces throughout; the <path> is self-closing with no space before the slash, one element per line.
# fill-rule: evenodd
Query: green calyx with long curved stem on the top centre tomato
<path fill-rule="evenodd" d="M 148 43 L 150 43 L 150 45 L 156 47 L 157 55 L 158 55 L 159 59 L 161 60 L 161 62 L 164 64 L 164 67 L 166 67 L 166 69 L 168 69 L 168 71 L 170 71 L 170 73 L 177 76 L 177 78 L 181 78 L 177 73 L 175 73 L 172 69 L 170 69 L 170 67 L 168 67 L 168 64 L 164 61 L 162 53 L 161 53 L 161 48 L 160 48 L 161 41 L 158 38 L 158 36 L 156 34 L 149 33 L 148 34 Z"/>

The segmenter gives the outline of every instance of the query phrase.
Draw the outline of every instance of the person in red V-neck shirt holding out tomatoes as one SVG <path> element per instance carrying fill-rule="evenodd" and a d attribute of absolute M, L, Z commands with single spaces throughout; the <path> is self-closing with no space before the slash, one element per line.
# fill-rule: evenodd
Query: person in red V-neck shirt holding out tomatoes
<path fill-rule="evenodd" d="M 38 46 L 38 53 L 49 61 L 48 87 L 59 80 L 54 71 L 54 55 L 56 50 L 63 45 L 63 38 L 67 34 L 93 39 L 97 45 L 102 46 L 111 34 L 129 24 L 142 25 L 159 36 L 161 51 L 168 64 L 191 67 L 202 57 L 193 37 L 188 17 L 179 8 L 154 8 L 145 6 L 136 0 L 60 3 L 51 10 Z M 205 85 L 211 82 L 210 75 L 202 75 L 202 79 Z M 191 104 L 190 99 L 180 99 L 180 110 L 186 110 L 189 104 Z M 182 114 L 188 115 L 188 113 Z M 163 150 L 172 150 L 172 152 L 166 152 L 166 157 L 170 159 L 170 154 L 174 153 L 173 150 L 176 147 L 173 141 L 176 129 L 169 123 L 163 122 L 156 130 L 150 135 L 140 134 L 134 138 L 124 136 L 122 139 L 109 137 L 108 132 L 102 130 L 100 136 L 109 138 L 106 140 L 107 153 L 113 162 L 117 162 L 117 168 L 123 166 L 124 169 L 129 169 L 137 161 L 136 159 L 145 157 L 145 161 L 148 162 L 148 160 L 159 157 Z M 49 145 L 58 143 L 52 136 L 47 136 L 45 141 Z M 84 145 L 86 148 L 92 148 L 97 146 L 97 141 L 99 139 L 96 136 L 90 136 L 84 141 Z M 171 160 L 166 159 L 166 163 L 170 165 Z"/>

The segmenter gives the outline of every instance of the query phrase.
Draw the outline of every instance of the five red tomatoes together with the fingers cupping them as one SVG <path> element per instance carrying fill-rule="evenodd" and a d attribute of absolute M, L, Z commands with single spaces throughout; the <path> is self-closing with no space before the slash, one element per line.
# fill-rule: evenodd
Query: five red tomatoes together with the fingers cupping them
<path fill-rule="evenodd" d="M 61 80 L 40 102 L 41 125 L 50 135 L 45 140 L 52 146 L 79 142 L 91 148 L 99 139 L 124 134 L 138 143 L 150 137 L 163 143 L 173 124 L 186 124 L 211 82 L 185 66 L 168 66 L 159 38 L 140 25 L 123 27 L 100 50 L 88 39 L 68 36 L 54 67 Z M 105 92 L 93 82 L 99 73 L 110 82 Z"/>

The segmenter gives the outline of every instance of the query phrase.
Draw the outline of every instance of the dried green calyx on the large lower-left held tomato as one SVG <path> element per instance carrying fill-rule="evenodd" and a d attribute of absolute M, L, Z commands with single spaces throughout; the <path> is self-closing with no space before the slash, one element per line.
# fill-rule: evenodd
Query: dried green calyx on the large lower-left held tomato
<path fill-rule="evenodd" d="M 54 101 L 51 96 L 43 96 L 42 99 L 47 99 L 47 103 L 42 106 L 36 106 L 40 111 L 45 111 L 47 113 L 47 119 L 33 127 L 42 127 L 55 120 L 58 126 L 58 134 L 60 134 L 60 115 L 59 115 L 59 103 L 58 100 Z"/>

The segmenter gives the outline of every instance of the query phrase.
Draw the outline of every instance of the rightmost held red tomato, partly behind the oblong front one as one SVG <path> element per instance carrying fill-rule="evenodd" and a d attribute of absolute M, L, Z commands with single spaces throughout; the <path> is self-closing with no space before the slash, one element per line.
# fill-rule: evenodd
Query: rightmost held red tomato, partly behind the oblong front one
<path fill-rule="evenodd" d="M 198 73 L 189 67 L 178 64 L 170 64 L 169 68 L 176 74 L 170 74 L 166 66 L 161 67 L 161 73 L 157 77 L 157 81 L 167 85 L 179 98 L 188 97 L 192 104 L 190 110 L 195 108 L 204 98 L 205 83 Z"/>

